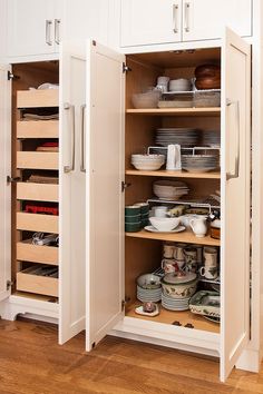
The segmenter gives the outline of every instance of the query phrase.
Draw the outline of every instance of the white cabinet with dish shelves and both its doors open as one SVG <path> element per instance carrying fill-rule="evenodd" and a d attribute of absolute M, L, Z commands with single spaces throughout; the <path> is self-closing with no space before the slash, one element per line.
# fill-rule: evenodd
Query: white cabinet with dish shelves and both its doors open
<path fill-rule="evenodd" d="M 179 50 L 179 45 L 175 47 Z M 188 48 L 191 49 L 191 47 Z M 145 82 L 154 86 L 156 76 L 193 72 L 210 58 L 221 63 L 221 108 L 134 109 L 132 95 Z M 207 60 L 206 60 L 207 61 Z M 124 66 L 129 67 L 126 73 Z M 236 72 L 238 70 L 238 72 Z M 220 357 L 221 380 L 236 364 L 250 336 L 250 85 L 251 48 L 231 30 L 222 46 L 194 51 L 126 55 L 90 43 L 87 53 L 87 351 L 107 333 L 137 341 L 187 349 Z M 125 75 L 126 73 L 126 75 Z M 107 86 L 107 89 L 105 87 Z M 124 97 L 126 91 L 126 97 Z M 125 107 L 126 102 L 126 107 Z M 125 108 L 125 109 L 124 109 Z M 126 114 L 126 115 L 125 115 Z M 124 121 L 125 118 L 125 121 Z M 183 119 L 183 120 L 182 120 Z M 152 181 L 162 176 L 184 179 L 185 173 L 143 174 L 130 166 L 130 154 L 153 142 L 157 125 L 199 127 L 204 122 L 221 131 L 221 173 L 187 176 L 187 183 L 221 188 L 221 243 L 191 233 L 163 235 L 124 234 L 124 205 L 150 197 Z M 124 128 L 125 125 L 125 128 Z M 124 141 L 125 138 L 125 141 Z M 121 152 L 123 151 L 123 152 Z M 164 173 L 164 174 L 163 174 Z M 194 178 L 194 179 L 189 179 Z M 129 185 L 121 190 L 121 181 Z M 236 196 L 241 204 L 236 205 Z M 238 220 L 235 218 L 238 217 Z M 136 278 L 156 269 L 162 242 L 186 242 L 221 248 L 221 326 L 186 313 L 162 308 L 155 318 L 134 313 Z M 158 262 L 158 259 L 157 259 Z M 235 277 L 235 286 L 232 278 Z M 238 308 L 236 305 L 238 304 Z M 191 323 L 194 328 L 173 325 Z M 113 329 L 110 332 L 110 328 Z"/>

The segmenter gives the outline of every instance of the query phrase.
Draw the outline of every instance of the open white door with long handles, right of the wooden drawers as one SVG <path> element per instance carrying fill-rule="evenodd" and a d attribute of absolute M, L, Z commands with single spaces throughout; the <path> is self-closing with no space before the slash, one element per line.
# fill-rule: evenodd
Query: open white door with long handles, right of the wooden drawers
<path fill-rule="evenodd" d="M 59 343 L 85 329 L 85 43 L 64 42 L 59 68 Z"/>

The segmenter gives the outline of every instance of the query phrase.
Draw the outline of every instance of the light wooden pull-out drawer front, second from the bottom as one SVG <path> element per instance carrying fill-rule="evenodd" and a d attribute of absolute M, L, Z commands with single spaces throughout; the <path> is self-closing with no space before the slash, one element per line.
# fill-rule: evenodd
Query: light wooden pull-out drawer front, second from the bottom
<path fill-rule="evenodd" d="M 17 243 L 17 259 L 58 265 L 58 247 L 32 245 L 26 242 Z"/>

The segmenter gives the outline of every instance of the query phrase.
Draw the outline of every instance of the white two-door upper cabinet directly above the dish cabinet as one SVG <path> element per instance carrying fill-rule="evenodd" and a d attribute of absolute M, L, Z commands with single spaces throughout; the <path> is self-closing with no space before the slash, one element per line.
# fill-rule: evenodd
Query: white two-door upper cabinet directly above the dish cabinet
<path fill-rule="evenodd" d="M 252 35 L 252 0 L 126 0 L 121 47 L 223 37 L 225 26 Z"/>

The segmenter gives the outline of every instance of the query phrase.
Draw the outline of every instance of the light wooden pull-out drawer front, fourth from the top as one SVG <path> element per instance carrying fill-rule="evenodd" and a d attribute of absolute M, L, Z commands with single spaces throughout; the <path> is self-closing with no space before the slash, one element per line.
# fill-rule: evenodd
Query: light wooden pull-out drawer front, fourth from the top
<path fill-rule="evenodd" d="M 18 183 L 17 199 L 58 203 L 58 185 Z"/>

